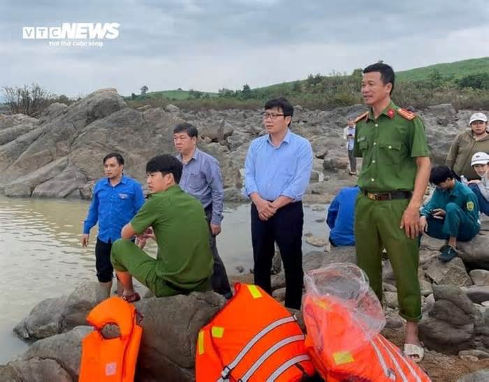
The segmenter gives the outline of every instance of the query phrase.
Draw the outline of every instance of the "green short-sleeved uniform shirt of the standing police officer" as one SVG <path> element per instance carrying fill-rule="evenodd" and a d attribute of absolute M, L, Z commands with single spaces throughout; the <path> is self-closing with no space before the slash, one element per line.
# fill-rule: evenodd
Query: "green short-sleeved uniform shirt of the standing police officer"
<path fill-rule="evenodd" d="M 363 158 L 358 185 L 370 192 L 412 191 L 418 166 L 417 157 L 430 155 L 423 121 L 416 116 L 407 119 L 391 102 L 374 119 L 368 116 L 357 121 L 354 154 Z"/>

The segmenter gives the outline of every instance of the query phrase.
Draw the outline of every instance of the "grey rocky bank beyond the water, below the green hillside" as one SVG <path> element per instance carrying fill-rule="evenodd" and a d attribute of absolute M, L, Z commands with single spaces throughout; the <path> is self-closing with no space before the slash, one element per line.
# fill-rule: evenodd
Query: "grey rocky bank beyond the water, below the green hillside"
<path fill-rule="evenodd" d="M 342 139 L 347 118 L 363 105 L 331 111 L 295 107 L 292 130 L 314 149 L 314 171 L 305 201 L 327 203 L 344 185 L 348 158 Z M 102 89 L 70 106 L 55 103 L 38 118 L 0 115 L 0 192 L 11 197 L 91 197 L 102 176 L 101 159 L 110 151 L 126 158 L 126 174 L 144 183 L 145 164 L 173 153 L 173 127 L 187 121 L 200 131 L 199 146 L 221 164 L 225 197 L 242 199 L 242 168 L 249 143 L 263 134 L 262 110 L 182 110 L 149 106 L 131 109 L 115 89 Z M 437 105 L 418 112 L 427 127 L 432 160 L 441 163 L 453 137 L 467 128 L 473 110 Z"/>

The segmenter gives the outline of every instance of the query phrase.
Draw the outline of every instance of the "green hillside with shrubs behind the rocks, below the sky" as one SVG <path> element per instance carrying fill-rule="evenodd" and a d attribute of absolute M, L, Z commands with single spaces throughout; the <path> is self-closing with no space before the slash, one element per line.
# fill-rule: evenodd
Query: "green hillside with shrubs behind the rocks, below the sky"
<path fill-rule="evenodd" d="M 489 57 L 397 72 L 393 99 L 398 105 L 417 109 L 440 103 L 455 108 L 489 109 Z M 129 105 L 164 106 L 173 103 L 188 109 L 255 109 L 265 100 L 286 97 L 294 105 L 313 109 L 332 109 L 362 102 L 362 70 L 351 74 L 309 75 L 307 79 L 251 89 L 220 89 L 218 93 L 161 91 L 126 98 Z M 175 93 L 176 92 L 176 93 Z"/>

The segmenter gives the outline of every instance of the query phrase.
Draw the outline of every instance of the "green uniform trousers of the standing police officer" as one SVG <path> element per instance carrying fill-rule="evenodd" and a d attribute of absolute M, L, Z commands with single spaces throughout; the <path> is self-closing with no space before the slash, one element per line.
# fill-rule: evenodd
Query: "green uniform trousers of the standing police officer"
<path fill-rule="evenodd" d="M 360 268 L 382 300 L 382 250 L 387 250 L 395 274 L 400 316 L 407 321 L 421 319 L 421 291 L 418 280 L 418 239 L 400 229 L 408 199 L 374 201 L 360 191 L 355 206 L 355 246 Z"/>

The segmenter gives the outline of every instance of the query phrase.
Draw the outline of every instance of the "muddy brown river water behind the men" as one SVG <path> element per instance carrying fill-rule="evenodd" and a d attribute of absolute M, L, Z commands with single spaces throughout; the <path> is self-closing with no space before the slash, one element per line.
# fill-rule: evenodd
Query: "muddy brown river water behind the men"
<path fill-rule="evenodd" d="M 45 298 L 70 293 L 87 280 L 96 280 L 92 229 L 90 245 L 80 245 L 88 201 L 17 199 L 0 196 L 0 363 L 27 349 L 13 327 Z M 315 208 L 316 207 L 316 208 Z M 305 206 L 304 232 L 326 235 L 326 211 Z M 322 206 L 327 207 L 327 206 Z M 226 204 L 218 249 L 230 275 L 252 266 L 248 204 Z M 304 243 L 303 251 L 318 250 Z M 156 254 L 156 245 L 148 252 Z"/>

